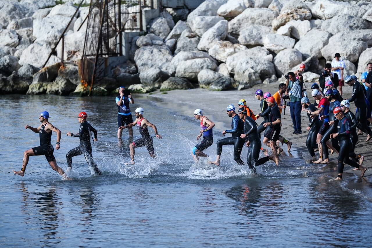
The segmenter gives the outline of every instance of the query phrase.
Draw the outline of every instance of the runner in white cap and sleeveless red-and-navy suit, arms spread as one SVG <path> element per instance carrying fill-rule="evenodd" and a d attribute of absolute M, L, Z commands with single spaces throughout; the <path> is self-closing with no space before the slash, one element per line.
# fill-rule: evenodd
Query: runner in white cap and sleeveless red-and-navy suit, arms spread
<path fill-rule="evenodd" d="M 134 147 L 141 147 L 146 146 L 148 154 L 150 154 L 151 158 L 156 158 L 156 155 L 154 153 L 154 146 L 153 146 L 153 138 L 148 133 L 147 127 L 152 127 L 154 129 L 155 135 L 158 139 L 161 139 L 161 136 L 158 134 L 158 130 L 155 127 L 154 124 L 151 124 L 148 120 L 143 118 L 143 108 L 136 108 L 134 115 L 136 116 L 136 120 L 133 123 L 129 123 L 126 126 L 121 126 L 119 128 L 124 129 L 128 127 L 133 127 L 137 125 L 137 127 L 140 129 L 141 138 L 135 140 L 133 143 L 129 145 L 129 149 L 131 152 L 131 162 L 130 164 L 134 164 Z"/>

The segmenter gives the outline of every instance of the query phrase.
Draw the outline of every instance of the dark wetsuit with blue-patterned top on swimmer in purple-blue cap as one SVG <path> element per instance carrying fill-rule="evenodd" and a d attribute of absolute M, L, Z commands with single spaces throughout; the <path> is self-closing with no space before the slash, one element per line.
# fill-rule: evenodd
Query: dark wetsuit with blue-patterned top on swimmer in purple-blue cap
<path fill-rule="evenodd" d="M 326 143 L 330 139 L 331 134 L 336 133 L 336 131 L 337 131 L 337 123 L 339 122 L 336 118 L 334 118 L 333 109 L 336 108 L 336 107 L 339 107 L 339 106 L 340 106 L 340 102 L 337 101 L 337 100 L 335 100 L 333 102 L 330 102 L 330 104 L 329 104 L 329 111 L 328 111 L 328 114 L 326 115 L 326 116 L 328 116 L 328 122 L 334 121 L 334 124 L 333 125 L 330 125 L 330 127 L 324 133 L 322 139 L 320 140 L 320 143 L 321 143 L 322 148 L 323 148 L 323 154 L 324 154 L 324 158 L 325 159 L 327 159 L 328 156 L 329 156 L 328 147 L 327 147 L 327 144 Z M 331 142 L 332 142 L 332 146 L 334 147 L 334 149 L 336 149 L 337 151 L 339 151 L 340 147 L 339 147 L 339 144 L 337 143 L 337 140 L 331 138 Z"/>

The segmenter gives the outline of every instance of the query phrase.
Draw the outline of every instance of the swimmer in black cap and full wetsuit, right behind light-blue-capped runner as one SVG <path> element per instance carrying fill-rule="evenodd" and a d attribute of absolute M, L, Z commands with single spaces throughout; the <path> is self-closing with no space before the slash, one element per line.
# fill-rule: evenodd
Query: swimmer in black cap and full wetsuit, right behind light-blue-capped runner
<path fill-rule="evenodd" d="M 259 159 L 260 149 L 261 149 L 261 140 L 257 132 L 256 122 L 249 116 L 247 116 L 247 110 L 244 108 L 239 109 L 239 118 L 244 122 L 244 133 L 241 134 L 242 139 L 247 139 L 250 142 L 247 153 L 247 165 L 250 169 L 253 169 L 256 166 L 266 163 L 270 159 L 278 165 L 278 157 L 274 154 L 266 156 Z"/>

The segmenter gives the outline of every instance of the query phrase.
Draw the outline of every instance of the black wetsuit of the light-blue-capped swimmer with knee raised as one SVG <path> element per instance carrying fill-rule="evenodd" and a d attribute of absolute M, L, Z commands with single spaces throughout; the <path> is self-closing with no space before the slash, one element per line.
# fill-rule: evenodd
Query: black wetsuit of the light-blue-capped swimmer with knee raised
<path fill-rule="evenodd" d="M 228 144 L 233 144 L 234 145 L 234 160 L 239 165 L 244 165 L 243 160 L 240 159 L 241 149 L 244 146 L 244 139 L 240 138 L 240 135 L 244 131 L 244 123 L 238 117 L 238 115 L 235 115 L 234 117 L 232 117 L 231 129 L 230 130 L 225 130 L 225 131 L 226 131 L 226 133 L 231 133 L 232 136 L 217 141 L 217 155 L 221 155 L 222 146 L 228 145 Z"/>

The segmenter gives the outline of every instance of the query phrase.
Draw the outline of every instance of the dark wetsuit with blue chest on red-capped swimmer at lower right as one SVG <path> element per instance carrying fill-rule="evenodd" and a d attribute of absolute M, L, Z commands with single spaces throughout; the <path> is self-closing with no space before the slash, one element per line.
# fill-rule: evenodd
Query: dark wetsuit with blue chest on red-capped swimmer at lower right
<path fill-rule="evenodd" d="M 339 174 L 341 174 L 344 170 L 344 163 L 351 165 L 355 168 L 359 168 L 359 164 L 353 160 L 349 159 L 349 150 L 352 147 L 352 142 L 350 139 L 350 123 L 349 119 L 344 116 L 337 125 L 337 133 L 339 134 L 337 137 L 340 142 L 340 153 L 339 153 Z"/>

